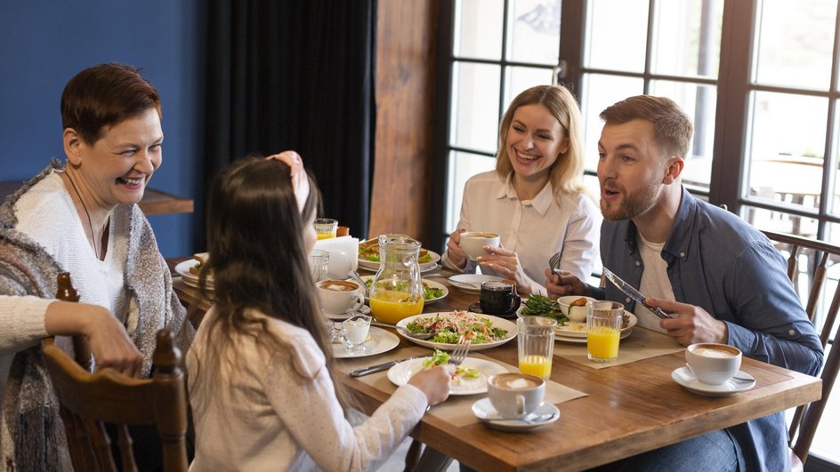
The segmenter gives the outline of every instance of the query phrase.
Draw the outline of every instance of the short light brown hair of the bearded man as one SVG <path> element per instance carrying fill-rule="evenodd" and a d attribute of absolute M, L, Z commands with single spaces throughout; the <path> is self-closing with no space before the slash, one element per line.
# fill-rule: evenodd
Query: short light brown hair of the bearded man
<path fill-rule="evenodd" d="M 605 124 L 625 124 L 636 119 L 650 121 L 654 139 L 666 156 L 683 159 L 688 156 L 694 124 L 674 100 L 636 95 L 605 108 L 601 119 Z"/>

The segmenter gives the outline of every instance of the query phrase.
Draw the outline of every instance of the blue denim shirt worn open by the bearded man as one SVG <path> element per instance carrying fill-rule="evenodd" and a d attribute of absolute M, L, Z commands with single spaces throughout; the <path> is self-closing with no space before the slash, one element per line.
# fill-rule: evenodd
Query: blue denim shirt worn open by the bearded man
<path fill-rule="evenodd" d="M 603 221 L 601 254 L 605 268 L 639 287 L 644 266 L 633 221 Z M 787 261 L 763 233 L 682 188 L 662 259 L 676 301 L 699 306 L 725 322 L 728 344 L 744 356 L 810 375 L 820 371 L 820 338 L 787 278 Z M 593 296 L 621 301 L 634 310 L 632 300 L 613 284 L 593 287 Z M 783 412 L 726 430 L 742 470 L 790 469 Z"/>

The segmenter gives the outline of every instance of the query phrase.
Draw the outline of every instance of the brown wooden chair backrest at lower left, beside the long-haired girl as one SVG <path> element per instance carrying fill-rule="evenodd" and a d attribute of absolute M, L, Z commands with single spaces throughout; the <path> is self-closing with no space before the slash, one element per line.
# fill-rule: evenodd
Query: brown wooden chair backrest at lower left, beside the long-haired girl
<path fill-rule="evenodd" d="M 156 425 L 164 470 L 186 472 L 187 395 L 179 367 L 181 353 L 171 332 L 158 332 L 151 379 L 133 379 L 112 369 L 88 372 L 52 339 L 44 340 L 43 352 L 74 468 L 117 470 L 104 426 L 113 423 L 123 470 L 137 470 L 128 425 Z"/>

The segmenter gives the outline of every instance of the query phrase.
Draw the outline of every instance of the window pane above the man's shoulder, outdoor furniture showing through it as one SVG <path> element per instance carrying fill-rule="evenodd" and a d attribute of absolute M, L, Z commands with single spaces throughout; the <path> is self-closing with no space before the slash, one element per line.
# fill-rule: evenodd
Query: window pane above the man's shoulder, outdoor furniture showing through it
<path fill-rule="evenodd" d="M 828 100 L 753 92 L 750 110 L 745 194 L 819 207 Z"/>

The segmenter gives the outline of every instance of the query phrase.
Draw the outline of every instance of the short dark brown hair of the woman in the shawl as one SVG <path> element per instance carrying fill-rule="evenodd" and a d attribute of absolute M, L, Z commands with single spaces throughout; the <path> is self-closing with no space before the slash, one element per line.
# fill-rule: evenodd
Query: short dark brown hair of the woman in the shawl
<path fill-rule="evenodd" d="M 61 93 L 61 126 L 73 128 L 87 144 L 102 136 L 106 126 L 141 115 L 149 108 L 160 113 L 155 86 L 140 69 L 124 64 L 100 64 L 70 79 Z"/>

